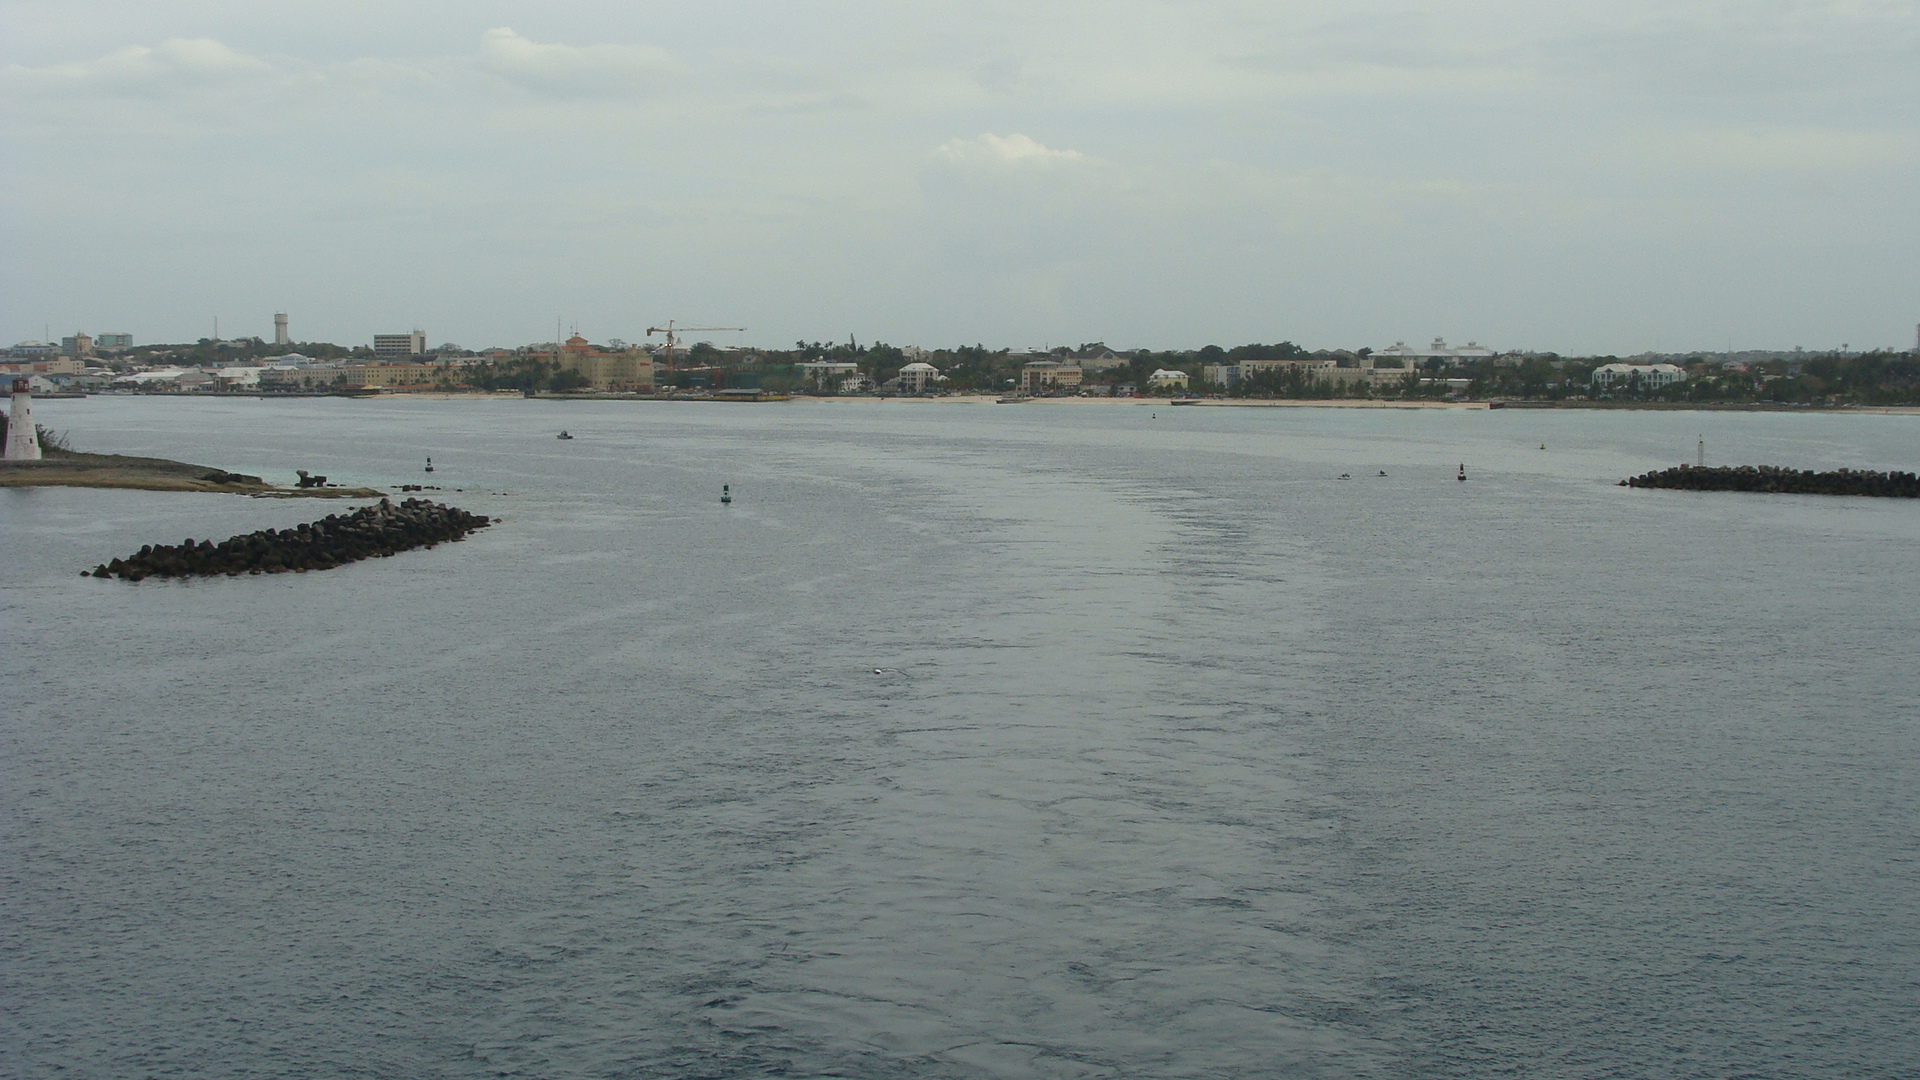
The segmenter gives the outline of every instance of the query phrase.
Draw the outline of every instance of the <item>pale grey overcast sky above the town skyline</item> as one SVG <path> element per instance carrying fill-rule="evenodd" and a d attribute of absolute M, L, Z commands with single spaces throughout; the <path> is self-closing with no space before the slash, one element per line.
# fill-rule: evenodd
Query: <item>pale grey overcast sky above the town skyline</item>
<path fill-rule="evenodd" d="M 1920 0 L 4 0 L 0 61 L 6 340 L 1920 323 Z"/>

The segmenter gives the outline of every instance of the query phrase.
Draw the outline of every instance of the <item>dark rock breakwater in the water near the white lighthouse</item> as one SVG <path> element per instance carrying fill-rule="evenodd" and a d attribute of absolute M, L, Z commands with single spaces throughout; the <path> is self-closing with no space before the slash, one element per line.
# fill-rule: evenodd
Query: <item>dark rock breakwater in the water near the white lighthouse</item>
<path fill-rule="evenodd" d="M 386 557 L 413 548 L 465 540 L 492 519 L 428 500 L 394 503 L 380 500 L 353 513 L 330 513 L 294 528 L 263 528 L 219 544 L 184 540 L 150 544 L 127 559 L 84 571 L 96 578 L 140 580 L 150 577 L 284 575 L 330 571 L 359 559 Z"/>

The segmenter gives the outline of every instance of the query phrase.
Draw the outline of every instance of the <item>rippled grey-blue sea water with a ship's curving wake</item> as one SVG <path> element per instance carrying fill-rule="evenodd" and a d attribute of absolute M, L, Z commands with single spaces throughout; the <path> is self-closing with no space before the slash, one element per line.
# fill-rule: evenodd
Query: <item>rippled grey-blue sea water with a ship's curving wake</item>
<path fill-rule="evenodd" d="M 1920 417 L 38 411 L 501 523 L 0 490 L 8 1076 L 1916 1072 Z"/>

